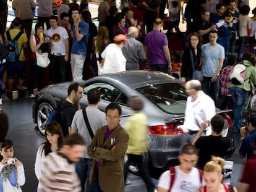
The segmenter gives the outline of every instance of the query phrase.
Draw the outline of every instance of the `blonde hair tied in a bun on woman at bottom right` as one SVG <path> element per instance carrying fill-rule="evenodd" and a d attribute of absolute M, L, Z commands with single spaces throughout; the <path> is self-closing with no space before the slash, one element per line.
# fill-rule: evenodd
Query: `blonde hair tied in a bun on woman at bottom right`
<path fill-rule="evenodd" d="M 219 175 L 223 172 L 225 161 L 221 157 L 211 156 L 211 161 L 203 167 L 204 172 L 217 172 Z"/>

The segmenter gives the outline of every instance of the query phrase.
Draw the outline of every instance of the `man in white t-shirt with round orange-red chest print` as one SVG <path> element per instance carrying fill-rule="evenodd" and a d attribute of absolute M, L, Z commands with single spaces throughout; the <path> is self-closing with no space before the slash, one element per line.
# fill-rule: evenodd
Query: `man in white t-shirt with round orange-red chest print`
<path fill-rule="evenodd" d="M 48 42 L 51 47 L 49 56 L 51 81 L 60 83 L 67 80 L 67 61 L 69 61 L 69 35 L 64 27 L 58 26 L 58 17 L 52 15 L 49 23 L 51 28 L 47 30 Z"/>

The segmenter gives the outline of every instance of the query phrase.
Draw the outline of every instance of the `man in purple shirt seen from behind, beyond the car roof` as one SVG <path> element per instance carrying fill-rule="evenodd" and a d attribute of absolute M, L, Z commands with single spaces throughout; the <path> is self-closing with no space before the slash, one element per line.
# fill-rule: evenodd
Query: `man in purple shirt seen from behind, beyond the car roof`
<path fill-rule="evenodd" d="M 166 35 L 160 31 L 162 23 L 159 18 L 154 20 L 154 30 L 146 35 L 145 46 L 150 70 L 167 73 L 171 71 L 171 56 Z"/>

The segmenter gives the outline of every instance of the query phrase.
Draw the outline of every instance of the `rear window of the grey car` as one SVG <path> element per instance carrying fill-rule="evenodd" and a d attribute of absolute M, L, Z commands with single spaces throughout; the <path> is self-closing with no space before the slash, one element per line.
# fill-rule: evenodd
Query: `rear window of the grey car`
<path fill-rule="evenodd" d="M 169 114 L 184 114 L 187 94 L 181 83 L 163 83 L 137 88 L 145 98 Z"/>

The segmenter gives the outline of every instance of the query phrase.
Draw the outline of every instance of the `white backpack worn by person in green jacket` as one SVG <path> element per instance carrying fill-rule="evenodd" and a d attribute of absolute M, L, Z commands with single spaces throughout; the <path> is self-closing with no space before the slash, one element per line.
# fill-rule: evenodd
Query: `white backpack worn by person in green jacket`
<path fill-rule="evenodd" d="M 242 85 L 246 77 L 247 67 L 244 64 L 234 65 L 231 75 L 229 76 L 231 83 L 234 85 Z"/>

